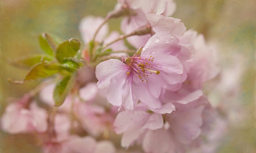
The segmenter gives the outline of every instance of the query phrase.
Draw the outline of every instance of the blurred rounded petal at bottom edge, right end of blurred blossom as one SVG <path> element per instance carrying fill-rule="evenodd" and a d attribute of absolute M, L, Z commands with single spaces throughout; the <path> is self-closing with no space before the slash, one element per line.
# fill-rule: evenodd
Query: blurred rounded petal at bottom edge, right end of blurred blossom
<path fill-rule="evenodd" d="M 111 141 L 103 140 L 97 143 L 94 153 L 115 153 L 116 148 Z"/>

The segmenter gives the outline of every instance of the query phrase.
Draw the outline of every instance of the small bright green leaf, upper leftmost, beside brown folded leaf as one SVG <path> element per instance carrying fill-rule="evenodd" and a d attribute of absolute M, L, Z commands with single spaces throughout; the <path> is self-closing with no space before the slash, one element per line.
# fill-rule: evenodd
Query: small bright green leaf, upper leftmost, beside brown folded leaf
<path fill-rule="evenodd" d="M 48 55 L 51 55 L 53 56 L 53 50 L 54 50 L 54 46 L 52 47 L 50 43 L 52 43 L 52 39 L 51 37 L 49 38 L 50 36 L 48 34 L 45 34 L 43 33 L 42 36 L 39 36 L 39 44 L 40 44 L 40 47 L 44 50 L 44 52 Z M 50 40 L 48 40 L 50 39 Z"/>

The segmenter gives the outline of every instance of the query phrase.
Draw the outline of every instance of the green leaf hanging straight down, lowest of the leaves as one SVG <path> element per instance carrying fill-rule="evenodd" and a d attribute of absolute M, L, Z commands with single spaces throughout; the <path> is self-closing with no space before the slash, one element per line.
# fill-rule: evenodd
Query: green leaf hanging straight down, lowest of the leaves
<path fill-rule="evenodd" d="M 69 91 L 73 87 L 75 82 L 75 75 L 66 76 L 60 82 L 58 82 L 53 91 L 53 99 L 55 106 L 61 106 L 66 97 L 68 96 Z"/>

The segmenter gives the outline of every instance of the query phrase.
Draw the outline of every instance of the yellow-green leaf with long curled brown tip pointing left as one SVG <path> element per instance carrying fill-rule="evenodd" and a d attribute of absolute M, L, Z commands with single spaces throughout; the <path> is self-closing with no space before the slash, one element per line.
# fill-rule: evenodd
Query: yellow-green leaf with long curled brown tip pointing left
<path fill-rule="evenodd" d="M 38 78 L 46 78 L 57 72 L 59 72 L 58 63 L 38 63 L 31 67 L 31 69 L 22 81 L 12 81 L 11 79 L 8 79 L 8 81 L 15 84 L 23 84 L 25 81 L 36 80 Z"/>

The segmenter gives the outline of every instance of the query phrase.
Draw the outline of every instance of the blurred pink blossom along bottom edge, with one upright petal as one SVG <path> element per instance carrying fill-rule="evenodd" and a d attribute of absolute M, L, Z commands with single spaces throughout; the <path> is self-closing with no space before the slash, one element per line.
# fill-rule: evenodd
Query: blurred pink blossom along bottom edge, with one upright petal
<path fill-rule="evenodd" d="M 99 141 L 91 136 L 71 135 L 71 122 L 68 115 L 56 114 L 54 122 L 55 137 L 44 142 L 44 153 L 115 153 L 115 146 L 110 141 Z"/>

